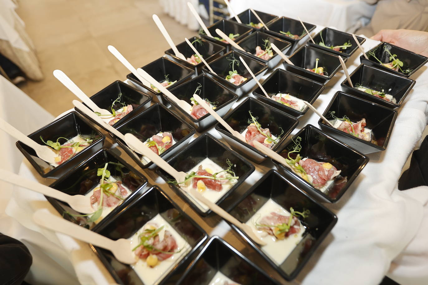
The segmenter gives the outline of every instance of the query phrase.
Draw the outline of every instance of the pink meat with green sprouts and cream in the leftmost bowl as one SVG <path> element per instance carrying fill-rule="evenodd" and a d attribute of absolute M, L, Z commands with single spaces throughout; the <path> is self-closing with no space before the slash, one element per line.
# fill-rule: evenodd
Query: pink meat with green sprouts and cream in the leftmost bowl
<path fill-rule="evenodd" d="M 70 159 L 76 153 L 82 151 L 85 147 L 88 147 L 93 142 L 92 138 L 86 138 L 81 135 L 76 135 L 74 138 L 70 139 L 59 137 L 56 139 L 55 142 L 44 141 L 42 136 L 40 136 L 40 139 L 43 141 L 43 143 L 45 143 L 49 147 L 52 147 L 53 150 L 55 150 L 55 152 L 58 154 L 58 156 L 55 157 L 55 162 L 51 163 L 53 167 L 61 165 L 66 160 Z M 64 142 L 60 143 L 59 141 Z"/>

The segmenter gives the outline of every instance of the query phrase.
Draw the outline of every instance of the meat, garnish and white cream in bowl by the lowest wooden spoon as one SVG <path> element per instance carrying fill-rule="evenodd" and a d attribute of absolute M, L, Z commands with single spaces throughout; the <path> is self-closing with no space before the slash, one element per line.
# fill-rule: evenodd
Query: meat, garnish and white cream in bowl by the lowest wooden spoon
<path fill-rule="evenodd" d="M 131 238 L 137 263 L 131 265 L 144 284 L 158 284 L 172 267 L 190 251 L 191 246 L 157 214 Z"/>

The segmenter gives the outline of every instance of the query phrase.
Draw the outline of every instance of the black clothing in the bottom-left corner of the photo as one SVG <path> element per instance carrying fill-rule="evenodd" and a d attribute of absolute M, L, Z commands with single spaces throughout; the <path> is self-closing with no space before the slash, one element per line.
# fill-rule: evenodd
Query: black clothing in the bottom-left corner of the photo
<path fill-rule="evenodd" d="M 0 285 L 19 285 L 24 281 L 33 257 L 15 238 L 0 233 Z"/>

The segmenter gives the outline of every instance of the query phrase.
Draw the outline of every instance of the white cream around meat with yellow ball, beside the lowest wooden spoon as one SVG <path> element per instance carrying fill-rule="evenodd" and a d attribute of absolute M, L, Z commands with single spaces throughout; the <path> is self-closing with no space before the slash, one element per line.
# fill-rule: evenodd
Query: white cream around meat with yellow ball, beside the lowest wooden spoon
<path fill-rule="evenodd" d="M 146 225 L 148 224 L 156 224 L 158 228 L 163 226 L 163 229 L 159 232 L 160 241 L 163 240 L 165 230 L 168 230 L 172 237 L 175 238 L 178 246 L 174 250 L 177 253 L 173 254 L 171 257 L 165 260 L 159 261 L 155 267 L 150 267 L 147 265 L 145 259 L 138 259 L 136 263 L 131 265 L 132 269 L 134 269 L 144 284 L 155 285 L 159 284 L 159 282 L 169 273 L 169 271 L 171 271 L 172 268 L 178 262 L 180 262 L 181 259 L 183 259 L 183 257 L 191 250 L 191 247 L 190 244 L 188 244 L 181 237 L 181 235 L 179 235 L 178 232 L 176 232 L 175 229 L 170 226 L 169 223 L 163 219 L 163 217 L 160 216 L 160 214 L 157 214 L 152 220 L 149 220 Z M 138 244 L 140 244 L 140 239 L 138 236 L 140 233 L 144 232 L 146 225 L 144 225 L 134 235 L 132 235 L 131 238 L 128 238 L 128 240 L 131 241 L 130 250 L 133 250 L 135 247 L 137 247 Z"/>

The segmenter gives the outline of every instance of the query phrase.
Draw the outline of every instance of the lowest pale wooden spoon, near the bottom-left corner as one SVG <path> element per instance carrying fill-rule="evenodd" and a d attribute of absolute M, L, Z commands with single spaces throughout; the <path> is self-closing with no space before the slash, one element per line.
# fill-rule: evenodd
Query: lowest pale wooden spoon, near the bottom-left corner
<path fill-rule="evenodd" d="M 62 232 L 80 241 L 85 241 L 97 247 L 110 250 L 113 255 L 122 263 L 133 264 L 137 262 L 137 256 L 132 252 L 131 241 L 125 238 L 119 238 L 113 241 L 89 229 L 69 222 L 62 217 L 46 212 L 46 209 L 40 209 L 33 214 L 33 220 L 39 225 L 55 232 Z"/>

